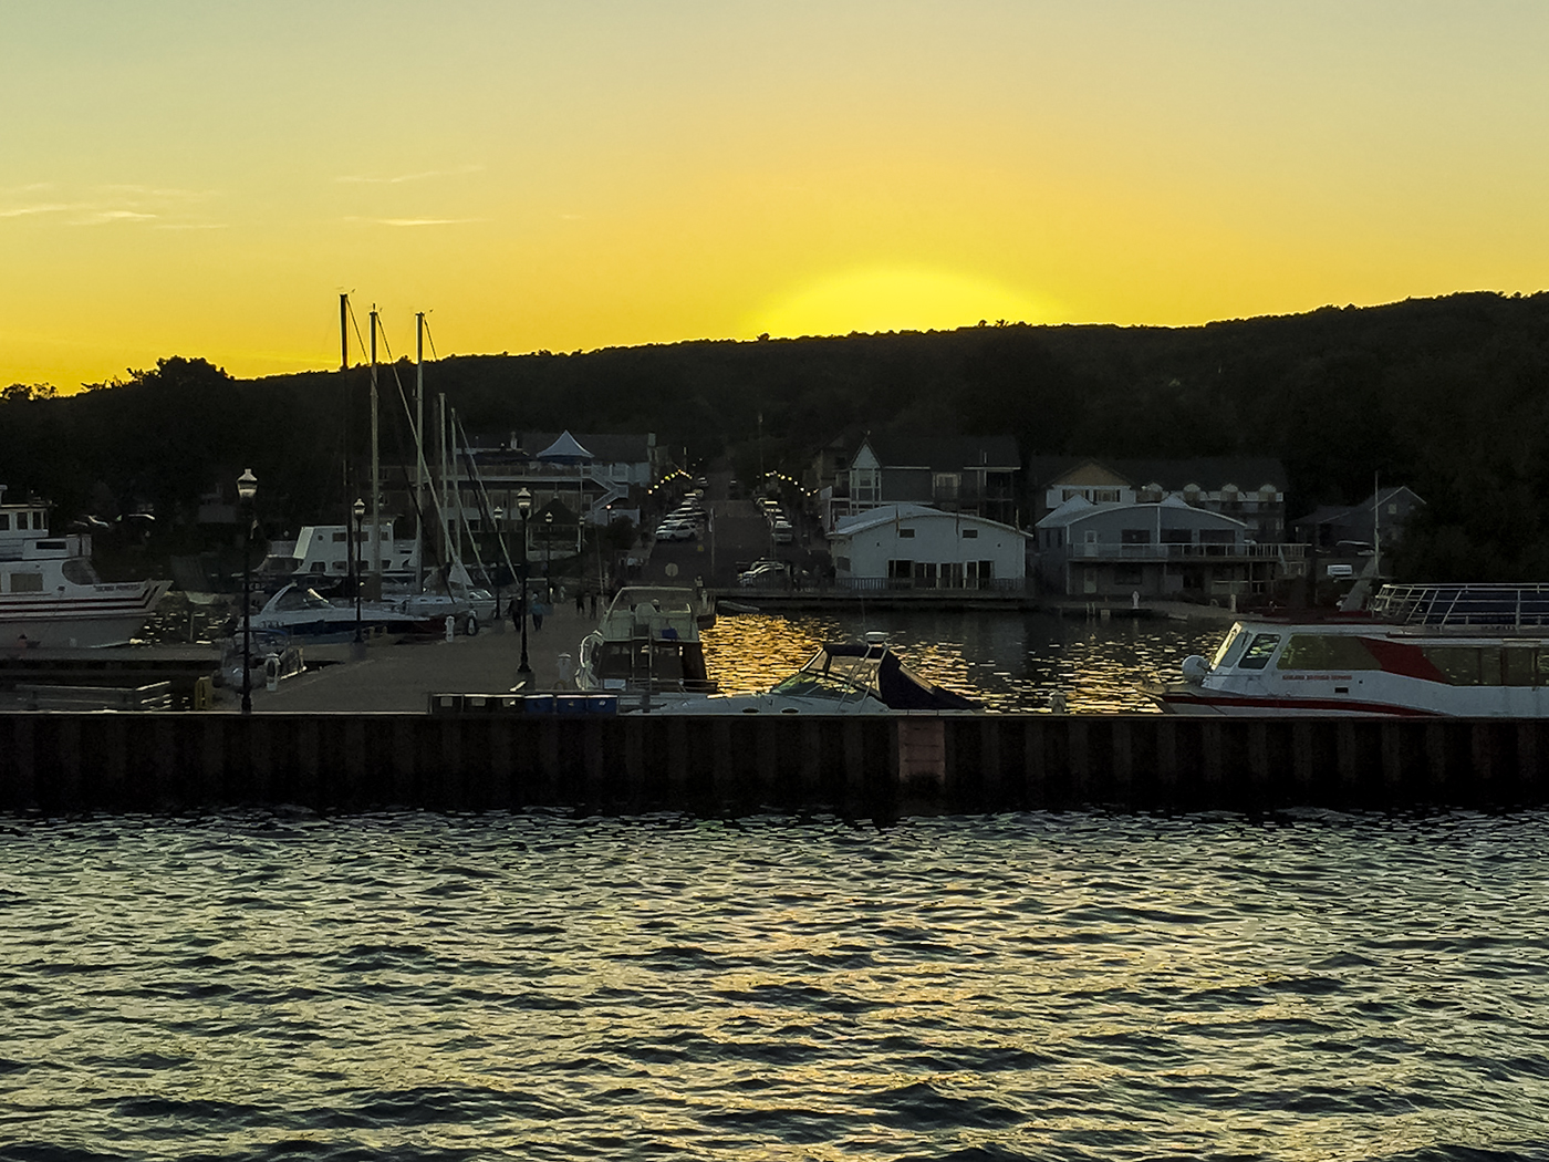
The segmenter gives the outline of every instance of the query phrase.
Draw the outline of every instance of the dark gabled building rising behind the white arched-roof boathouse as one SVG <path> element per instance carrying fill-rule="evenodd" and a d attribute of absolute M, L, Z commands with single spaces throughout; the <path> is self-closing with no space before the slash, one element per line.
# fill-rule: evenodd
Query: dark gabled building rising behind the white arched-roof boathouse
<path fill-rule="evenodd" d="M 832 480 L 821 473 L 832 471 Z M 946 513 L 1016 525 L 1022 460 L 1010 435 L 863 435 L 844 457 L 819 452 L 823 527 L 846 516 L 897 504 L 931 505 Z"/>

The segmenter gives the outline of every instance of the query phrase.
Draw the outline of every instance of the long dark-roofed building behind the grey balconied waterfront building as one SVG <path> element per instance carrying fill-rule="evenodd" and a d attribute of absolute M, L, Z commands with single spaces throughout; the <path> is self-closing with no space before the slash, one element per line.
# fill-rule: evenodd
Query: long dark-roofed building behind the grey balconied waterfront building
<path fill-rule="evenodd" d="M 1080 496 L 1092 504 L 1156 504 L 1177 494 L 1194 508 L 1242 521 L 1261 544 L 1286 541 L 1286 468 L 1272 457 L 1092 460 L 1033 457 L 1033 522 Z"/>

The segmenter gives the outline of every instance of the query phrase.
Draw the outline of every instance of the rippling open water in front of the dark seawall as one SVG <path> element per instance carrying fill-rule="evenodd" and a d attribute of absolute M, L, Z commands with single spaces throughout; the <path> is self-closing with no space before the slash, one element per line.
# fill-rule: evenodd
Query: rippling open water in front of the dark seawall
<path fill-rule="evenodd" d="M 0 1157 L 1549 1154 L 1549 816 L 17 821 Z"/>

